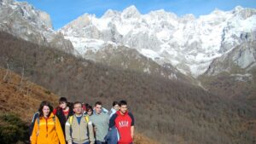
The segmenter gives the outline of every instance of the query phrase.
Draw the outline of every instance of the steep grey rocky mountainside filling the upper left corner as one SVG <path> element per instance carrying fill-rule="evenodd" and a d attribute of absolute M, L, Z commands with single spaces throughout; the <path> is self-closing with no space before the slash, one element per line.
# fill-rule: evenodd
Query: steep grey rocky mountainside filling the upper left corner
<path fill-rule="evenodd" d="M 0 0 L 0 31 L 69 53 L 74 50 L 69 40 L 53 30 L 49 14 L 26 2 Z"/>

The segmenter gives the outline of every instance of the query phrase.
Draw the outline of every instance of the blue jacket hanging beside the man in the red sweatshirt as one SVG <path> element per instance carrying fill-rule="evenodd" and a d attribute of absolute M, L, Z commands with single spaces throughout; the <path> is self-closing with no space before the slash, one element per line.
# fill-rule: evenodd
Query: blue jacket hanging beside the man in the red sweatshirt
<path fill-rule="evenodd" d="M 113 126 L 110 130 L 108 130 L 108 134 L 105 136 L 105 141 L 108 144 L 117 144 L 119 141 L 119 131 Z"/>

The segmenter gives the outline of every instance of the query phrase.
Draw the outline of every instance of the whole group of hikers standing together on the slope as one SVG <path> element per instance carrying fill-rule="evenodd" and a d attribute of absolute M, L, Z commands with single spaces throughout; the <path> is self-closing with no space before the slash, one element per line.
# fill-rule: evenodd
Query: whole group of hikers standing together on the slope
<path fill-rule="evenodd" d="M 126 101 L 113 101 L 110 111 L 96 101 L 94 107 L 61 97 L 55 109 L 42 101 L 32 118 L 32 144 L 132 144 L 134 118 Z"/>

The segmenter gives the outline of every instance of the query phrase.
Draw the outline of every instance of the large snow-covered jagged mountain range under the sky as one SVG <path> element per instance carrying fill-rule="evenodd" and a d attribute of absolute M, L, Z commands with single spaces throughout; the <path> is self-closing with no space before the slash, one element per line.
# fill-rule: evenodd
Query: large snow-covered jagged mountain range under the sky
<path fill-rule="evenodd" d="M 83 14 L 59 32 L 85 58 L 106 45 L 125 46 L 196 78 L 212 60 L 256 39 L 256 9 L 216 9 L 195 18 L 193 14 L 178 17 L 163 9 L 140 14 L 131 6 L 122 12 L 109 9 L 101 18 Z"/>

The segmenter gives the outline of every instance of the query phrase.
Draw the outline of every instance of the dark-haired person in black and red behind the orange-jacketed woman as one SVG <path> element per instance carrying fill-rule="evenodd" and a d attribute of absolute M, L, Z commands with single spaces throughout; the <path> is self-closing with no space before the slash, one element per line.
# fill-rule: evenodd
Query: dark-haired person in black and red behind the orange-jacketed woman
<path fill-rule="evenodd" d="M 67 106 L 66 97 L 61 97 L 59 99 L 59 107 L 55 108 L 53 113 L 55 114 L 55 116 L 59 118 L 61 122 L 62 131 L 65 134 L 65 124 L 67 122 L 67 118 L 73 115 L 72 108 Z"/>

